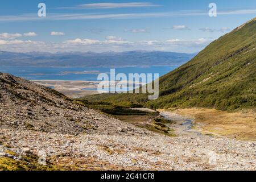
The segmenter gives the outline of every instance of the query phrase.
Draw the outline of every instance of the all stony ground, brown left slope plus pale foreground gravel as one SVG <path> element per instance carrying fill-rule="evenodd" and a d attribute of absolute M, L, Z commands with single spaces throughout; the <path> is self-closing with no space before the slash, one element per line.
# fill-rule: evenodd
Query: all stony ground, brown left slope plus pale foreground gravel
<path fill-rule="evenodd" d="M 0 169 L 36 169 L 32 155 L 55 169 L 256 170 L 255 142 L 166 137 L 21 78 L 0 73 L 0 86 Z"/>

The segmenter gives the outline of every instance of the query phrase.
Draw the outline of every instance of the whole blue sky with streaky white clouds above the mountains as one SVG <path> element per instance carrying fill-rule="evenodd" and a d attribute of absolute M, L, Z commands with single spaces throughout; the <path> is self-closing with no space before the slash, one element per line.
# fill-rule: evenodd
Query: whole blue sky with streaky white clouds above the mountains
<path fill-rule="evenodd" d="M 0 50 L 197 52 L 255 14 L 255 0 L 1 1 Z"/>

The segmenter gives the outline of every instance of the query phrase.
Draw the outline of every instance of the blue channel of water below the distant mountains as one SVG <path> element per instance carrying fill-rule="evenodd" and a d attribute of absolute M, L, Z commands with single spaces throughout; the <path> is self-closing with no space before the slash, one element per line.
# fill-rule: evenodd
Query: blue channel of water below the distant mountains
<path fill-rule="evenodd" d="M 163 76 L 174 70 L 175 66 L 150 67 L 150 68 L 116 68 L 115 74 L 125 73 L 159 73 Z M 26 78 L 27 80 L 81 80 L 97 81 L 98 74 L 107 73 L 110 75 L 110 68 L 36 68 L 36 67 L 1 67 L 0 72 L 10 73 L 11 75 Z"/>

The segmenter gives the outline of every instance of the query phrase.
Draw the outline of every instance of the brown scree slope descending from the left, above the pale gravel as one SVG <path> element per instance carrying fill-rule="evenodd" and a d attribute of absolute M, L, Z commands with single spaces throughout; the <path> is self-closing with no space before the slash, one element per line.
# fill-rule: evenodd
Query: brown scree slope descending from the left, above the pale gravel
<path fill-rule="evenodd" d="M 129 133 L 126 123 L 88 109 L 53 89 L 0 73 L 1 130 L 56 134 L 121 133 L 114 127 L 116 125 Z"/>

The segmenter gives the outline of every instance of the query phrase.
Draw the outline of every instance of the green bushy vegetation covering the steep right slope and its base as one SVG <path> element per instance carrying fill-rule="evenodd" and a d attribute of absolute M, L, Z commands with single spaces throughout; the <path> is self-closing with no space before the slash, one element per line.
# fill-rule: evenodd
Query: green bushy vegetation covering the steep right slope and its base
<path fill-rule="evenodd" d="M 149 108 L 209 107 L 220 110 L 256 106 L 256 18 L 215 40 L 195 58 L 160 78 L 160 97 L 98 94 L 81 100 Z"/>

